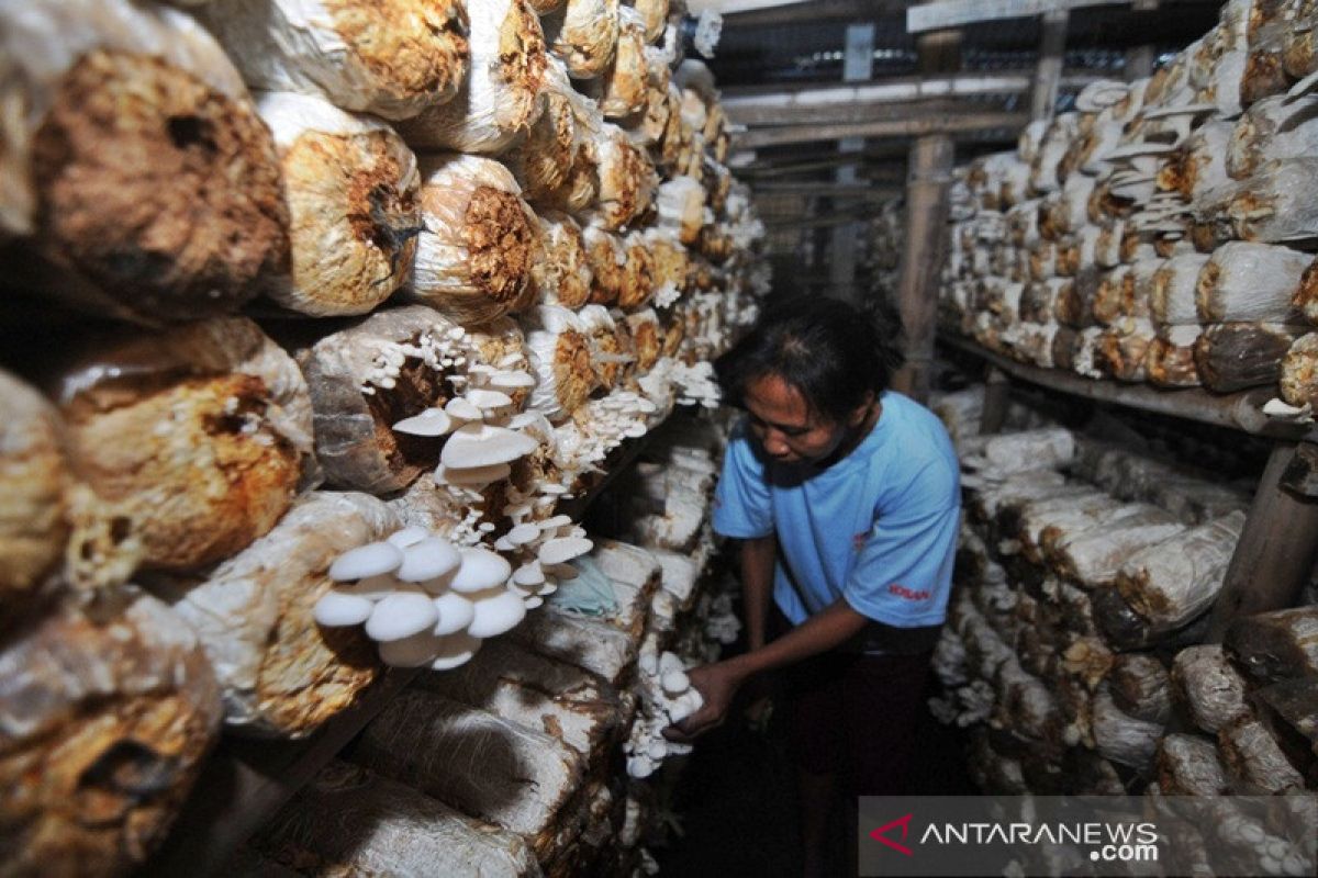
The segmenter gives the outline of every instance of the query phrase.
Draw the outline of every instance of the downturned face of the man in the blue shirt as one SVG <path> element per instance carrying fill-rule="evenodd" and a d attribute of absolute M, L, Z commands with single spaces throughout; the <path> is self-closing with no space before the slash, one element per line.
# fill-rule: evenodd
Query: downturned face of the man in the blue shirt
<path fill-rule="evenodd" d="M 750 429 L 760 448 L 780 463 L 817 463 L 837 450 L 846 425 L 825 420 L 800 391 L 778 375 L 757 378 L 743 394 Z M 863 409 L 861 409 L 863 420 Z"/>

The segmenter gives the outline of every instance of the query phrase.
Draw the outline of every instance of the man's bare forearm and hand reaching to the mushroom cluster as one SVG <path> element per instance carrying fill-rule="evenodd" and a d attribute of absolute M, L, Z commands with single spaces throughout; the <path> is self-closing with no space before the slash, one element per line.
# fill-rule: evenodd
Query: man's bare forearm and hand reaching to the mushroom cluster
<path fill-rule="evenodd" d="M 824 612 L 816 613 L 774 642 L 749 653 L 691 671 L 691 683 L 705 699 L 705 706 L 681 723 L 664 729 L 671 741 L 689 741 L 720 723 L 728 715 L 737 690 L 750 677 L 826 652 L 854 637 L 869 619 L 838 598 Z"/>

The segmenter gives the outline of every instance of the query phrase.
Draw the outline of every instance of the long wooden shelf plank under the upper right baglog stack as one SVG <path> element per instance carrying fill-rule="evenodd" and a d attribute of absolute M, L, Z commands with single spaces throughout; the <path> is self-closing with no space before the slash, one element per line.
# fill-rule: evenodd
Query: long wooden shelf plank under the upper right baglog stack
<path fill-rule="evenodd" d="M 1268 387 L 1257 387 L 1239 394 L 1213 394 L 1201 388 L 1164 390 L 1151 384 L 1124 384 L 1114 380 L 1095 380 L 1060 369 L 1040 369 L 987 350 L 978 344 L 946 333 L 938 341 L 979 357 L 1012 378 L 1056 390 L 1072 396 L 1083 396 L 1101 403 L 1136 408 L 1159 415 L 1170 415 L 1201 424 L 1267 436 L 1271 438 L 1301 440 L 1313 425 L 1290 424 L 1263 413 L 1263 405 L 1276 396 Z"/>

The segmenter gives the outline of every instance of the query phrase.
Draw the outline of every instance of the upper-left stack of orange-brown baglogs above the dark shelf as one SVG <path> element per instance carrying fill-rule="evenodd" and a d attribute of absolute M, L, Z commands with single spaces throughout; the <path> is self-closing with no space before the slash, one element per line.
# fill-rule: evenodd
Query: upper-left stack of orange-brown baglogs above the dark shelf
<path fill-rule="evenodd" d="M 221 720 L 353 704 L 348 550 L 572 533 L 762 286 L 663 0 L 177 5 L 0 3 L 14 874 L 129 869 Z"/>

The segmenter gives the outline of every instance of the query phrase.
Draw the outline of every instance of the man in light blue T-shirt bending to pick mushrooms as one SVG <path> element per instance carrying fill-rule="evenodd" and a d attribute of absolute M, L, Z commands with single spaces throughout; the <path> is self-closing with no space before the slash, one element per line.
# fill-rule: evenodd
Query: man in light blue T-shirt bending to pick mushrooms
<path fill-rule="evenodd" d="M 720 724 L 742 684 L 783 669 L 807 874 L 822 867 L 838 792 L 905 791 L 946 616 L 958 465 L 937 417 L 887 390 L 899 365 L 891 338 L 830 299 L 768 309 L 717 363 L 747 412 L 713 524 L 742 541 L 749 650 L 691 673 L 705 706 L 667 733 Z"/>

